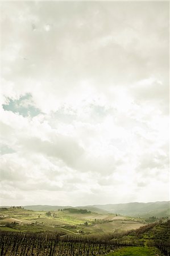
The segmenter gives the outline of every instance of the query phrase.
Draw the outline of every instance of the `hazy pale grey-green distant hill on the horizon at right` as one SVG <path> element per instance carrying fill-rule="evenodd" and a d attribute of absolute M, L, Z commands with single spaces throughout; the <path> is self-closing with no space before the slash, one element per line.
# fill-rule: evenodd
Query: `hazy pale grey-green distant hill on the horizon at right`
<path fill-rule="evenodd" d="M 118 213 L 125 216 L 164 217 L 170 216 L 169 203 L 169 201 L 163 201 L 154 203 L 106 204 L 94 205 L 94 207 L 107 210 L 109 213 Z"/>

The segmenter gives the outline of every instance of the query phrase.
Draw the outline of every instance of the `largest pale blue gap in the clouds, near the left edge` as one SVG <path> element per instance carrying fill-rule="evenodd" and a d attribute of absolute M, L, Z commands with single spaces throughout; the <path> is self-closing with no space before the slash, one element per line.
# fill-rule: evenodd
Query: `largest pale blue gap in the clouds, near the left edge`
<path fill-rule="evenodd" d="M 12 111 L 13 113 L 18 113 L 23 117 L 35 117 L 36 115 L 41 113 L 38 108 L 35 108 L 30 93 L 20 96 L 19 100 L 13 100 L 12 98 L 8 98 L 7 101 L 7 104 L 2 105 L 3 109 L 7 111 Z"/>

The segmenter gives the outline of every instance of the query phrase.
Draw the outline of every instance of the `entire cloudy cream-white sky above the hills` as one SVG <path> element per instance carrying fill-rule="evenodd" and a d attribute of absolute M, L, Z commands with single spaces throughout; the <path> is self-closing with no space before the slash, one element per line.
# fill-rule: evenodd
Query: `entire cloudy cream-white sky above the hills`
<path fill-rule="evenodd" d="M 169 2 L 2 2 L 1 205 L 169 200 Z"/>

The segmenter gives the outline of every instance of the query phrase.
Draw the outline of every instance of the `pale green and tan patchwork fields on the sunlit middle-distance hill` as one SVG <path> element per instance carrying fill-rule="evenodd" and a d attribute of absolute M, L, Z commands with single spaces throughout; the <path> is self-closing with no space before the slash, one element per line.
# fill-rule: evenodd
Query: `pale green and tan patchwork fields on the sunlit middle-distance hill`
<path fill-rule="evenodd" d="M 82 211 L 82 210 L 81 210 Z M 0 209 L 0 230 L 9 228 L 21 232 L 65 232 L 66 234 L 103 234 L 137 229 L 146 225 L 144 220 L 99 214 L 79 213 L 69 210 L 52 210 L 51 216 L 45 211 L 33 211 L 23 208 Z"/>

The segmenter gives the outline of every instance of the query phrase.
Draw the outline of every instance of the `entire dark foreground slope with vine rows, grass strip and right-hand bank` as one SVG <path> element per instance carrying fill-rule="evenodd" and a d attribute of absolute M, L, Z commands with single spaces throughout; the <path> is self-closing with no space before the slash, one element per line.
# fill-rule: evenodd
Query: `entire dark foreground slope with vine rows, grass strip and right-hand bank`
<path fill-rule="evenodd" d="M 170 222 L 159 222 L 126 232 L 102 236 L 58 233 L 23 233 L 0 230 L 0 254 L 35 256 L 154 256 L 169 255 Z"/>

